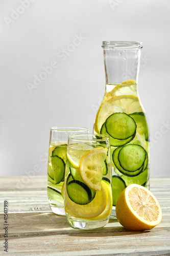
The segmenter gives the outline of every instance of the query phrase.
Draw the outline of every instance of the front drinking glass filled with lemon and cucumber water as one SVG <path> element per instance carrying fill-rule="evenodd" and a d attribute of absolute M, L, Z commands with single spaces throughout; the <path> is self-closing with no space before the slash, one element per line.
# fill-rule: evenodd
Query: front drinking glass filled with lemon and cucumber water
<path fill-rule="evenodd" d="M 112 209 L 111 150 L 107 135 L 68 137 L 64 209 L 78 229 L 104 227 Z"/>

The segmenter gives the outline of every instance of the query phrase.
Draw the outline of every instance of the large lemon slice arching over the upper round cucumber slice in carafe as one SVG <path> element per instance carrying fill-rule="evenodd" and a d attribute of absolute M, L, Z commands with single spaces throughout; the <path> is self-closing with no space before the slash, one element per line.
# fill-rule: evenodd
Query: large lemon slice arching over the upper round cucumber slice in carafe
<path fill-rule="evenodd" d="M 99 132 L 102 124 L 113 113 L 124 112 L 126 114 L 142 112 L 142 107 L 137 96 L 119 95 L 105 101 L 101 106 L 100 113 L 96 116 L 94 129 Z"/>

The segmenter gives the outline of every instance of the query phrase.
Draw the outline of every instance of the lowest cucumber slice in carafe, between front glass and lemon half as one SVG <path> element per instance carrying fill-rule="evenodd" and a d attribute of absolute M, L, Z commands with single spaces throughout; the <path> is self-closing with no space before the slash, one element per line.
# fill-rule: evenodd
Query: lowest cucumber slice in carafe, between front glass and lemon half
<path fill-rule="evenodd" d="M 126 188 L 125 181 L 120 176 L 113 175 L 112 176 L 113 206 L 116 206 L 117 199 L 125 188 Z"/>

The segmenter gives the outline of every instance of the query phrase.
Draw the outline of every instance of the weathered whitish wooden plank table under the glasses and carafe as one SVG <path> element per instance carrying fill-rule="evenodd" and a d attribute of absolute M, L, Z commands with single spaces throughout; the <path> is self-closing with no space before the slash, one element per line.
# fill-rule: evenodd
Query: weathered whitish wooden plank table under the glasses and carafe
<path fill-rule="evenodd" d="M 0 185 L 0 255 L 170 255 L 170 176 L 151 177 L 151 191 L 163 217 L 157 227 L 145 232 L 127 231 L 117 220 L 93 231 L 71 228 L 65 217 L 51 212 L 45 176 L 2 177 Z M 5 230 L 8 252 L 3 248 Z"/>

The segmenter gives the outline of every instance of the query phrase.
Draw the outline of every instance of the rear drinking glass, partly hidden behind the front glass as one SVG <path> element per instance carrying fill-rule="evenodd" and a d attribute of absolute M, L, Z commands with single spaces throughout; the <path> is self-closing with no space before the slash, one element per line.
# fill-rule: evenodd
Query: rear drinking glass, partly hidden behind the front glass
<path fill-rule="evenodd" d="M 64 187 L 64 174 L 68 136 L 88 133 L 86 127 L 52 127 L 48 152 L 47 196 L 50 208 L 57 215 L 65 215 L 61 195 Z"/>

